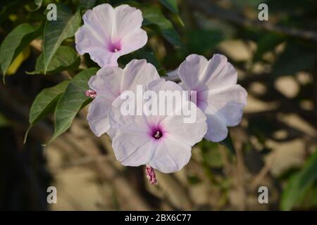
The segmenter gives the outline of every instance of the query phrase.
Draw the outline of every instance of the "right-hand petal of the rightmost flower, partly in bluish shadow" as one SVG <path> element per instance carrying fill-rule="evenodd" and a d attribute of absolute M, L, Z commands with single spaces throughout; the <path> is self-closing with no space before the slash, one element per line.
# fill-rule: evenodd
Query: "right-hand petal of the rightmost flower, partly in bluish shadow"
<path fill-rule="evenodd" d="M 240 124 L 243 108 L 247 105 L 247 91 L 238 84 L 218 90 L 208 91 L 208 107 L 216 112 L 228 127 Z"/>

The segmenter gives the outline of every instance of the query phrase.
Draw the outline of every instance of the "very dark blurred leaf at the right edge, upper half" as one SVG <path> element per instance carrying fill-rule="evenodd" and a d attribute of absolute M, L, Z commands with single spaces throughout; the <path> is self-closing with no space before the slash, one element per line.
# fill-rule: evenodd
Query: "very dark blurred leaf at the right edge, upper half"
<path fill-rule="evenodd" d="M 275 76 L 294 75 L 296 72 L 313 68 L 317 54 L 311 49 L 290 41 L 273 65 L 272 74 Z"/>

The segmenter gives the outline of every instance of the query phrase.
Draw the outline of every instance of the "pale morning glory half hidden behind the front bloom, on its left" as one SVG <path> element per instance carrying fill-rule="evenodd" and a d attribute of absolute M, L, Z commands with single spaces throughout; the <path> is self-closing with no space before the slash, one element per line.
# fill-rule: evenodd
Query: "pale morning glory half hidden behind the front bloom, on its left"
<path fill-rule="evenodd" d="M 145 85 L 154 79 L 159 79 L 159 74 L 154 65 L 147 60 L 131 60 L 124 69 L 101 68 L 97 75 L 89 79 L 87 96 L 94 98 L 89 106 L 87 120 L 89 127 L 96 136 L 106 133 L 111 128 L 108 122 L 108 111 L 113 101 L 123 91 L 134 91 L 137 85 Z"/>

